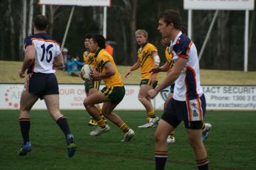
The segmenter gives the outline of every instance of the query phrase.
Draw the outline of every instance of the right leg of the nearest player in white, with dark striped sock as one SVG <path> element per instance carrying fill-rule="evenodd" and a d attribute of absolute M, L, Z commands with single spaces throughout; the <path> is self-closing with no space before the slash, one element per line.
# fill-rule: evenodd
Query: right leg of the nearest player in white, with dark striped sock
<path fill-rule="evenodd" d="M 198 126 L 193 124 L 200 125 Z M 190 121 L 190 126 L 192 127 L 192 129 L 186 128 L 186 133 L 189 138 L 189 144 L 195 154 L 195 160 L 197 162 L 198 169 L 206 170 L 208 169 L 209 160 L 207 157 L 206 149 L 203 145 L 203 141 L 201 140 L 201 121 Z"/>

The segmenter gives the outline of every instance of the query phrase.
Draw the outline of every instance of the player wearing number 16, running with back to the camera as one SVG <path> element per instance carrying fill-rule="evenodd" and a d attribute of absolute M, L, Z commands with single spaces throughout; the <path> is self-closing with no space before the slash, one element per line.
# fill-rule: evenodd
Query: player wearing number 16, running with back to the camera
<path fill-rule="evenodd" d="M 53 66 L 64 65 L 60 47 L 53 38 L 46 34 L 48 27 L 47 17 L 36 15 L 33 22 L 34 34 L 24 39 L 25 57 L 19 77 L 24 78 L 27 70 L 27 79 L 24 91 L 21 93 L 19 124 L 24 144 L 18 155 L 27 155 L 32 150 L 30 143 L 30 110 L 36 101 L 44 99 L 50 116 L 64 132 L 67 142 L 67 155 L 75 154 L 74 136 L 70 132 L 67 119 L 59 110 L 58 82 L 53 74 Z"/>

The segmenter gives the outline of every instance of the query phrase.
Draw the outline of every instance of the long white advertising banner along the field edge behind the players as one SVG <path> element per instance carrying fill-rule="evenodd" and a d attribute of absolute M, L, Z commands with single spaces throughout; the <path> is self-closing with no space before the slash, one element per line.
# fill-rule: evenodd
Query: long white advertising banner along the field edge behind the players
<path fill-rule="evenodd" d="M 207 110 L 256 110 L 256 86 L 203 85 Z M 0 84 L 0 109 L 18 110 L 22 84 Z M 101 85 L 100 88 L 103 88 Z M 118 110 L 145 110 L 138 101 L 139 85 L 125 85 L 126 93 Z M 60 108 L 83 110 L 86 98 L 84 85 L 59 85 Z M 152 100 L 156 110 L 164 110 L 169 88 L 164 89 Z M 38 99 L 33 109 L 46 109 L 44 100 Z"/>

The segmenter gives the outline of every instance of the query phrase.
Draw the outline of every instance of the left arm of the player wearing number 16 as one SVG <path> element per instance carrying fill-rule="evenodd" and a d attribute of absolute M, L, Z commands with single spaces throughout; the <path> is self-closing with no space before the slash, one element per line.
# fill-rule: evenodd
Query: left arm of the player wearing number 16
<path fill-rule="evenodd" d="M 21 67 L 21 70 L 18 71 L 18 75 L 21 78 L 24 78 L 24 73 L 27 70 L 27 68 L 30 67 L 30 65 L 33 63 L 33 60 L 35 60 L 35 54 L 36 54 L 36 49 L 34 46 L 27 46 L 25 50 L 25 57 L 23 61 L 23 65 Z"/>

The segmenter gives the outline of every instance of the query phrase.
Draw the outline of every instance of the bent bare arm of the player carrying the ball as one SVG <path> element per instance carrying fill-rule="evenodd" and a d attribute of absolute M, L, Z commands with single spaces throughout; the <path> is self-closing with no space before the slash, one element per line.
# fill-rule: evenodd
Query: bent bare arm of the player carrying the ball
<path fill-rule="evenodd" d="M 105 71 L 103 73 L 100 73 L 94 69 L 92 71 L 92 78 L 97 81 L 106 77 L 110 77 L 115 74 L 115 68 L 113 67 L 112 63 L 110 62 L 105 63 L 104 68 L 105 68 Z"/>

